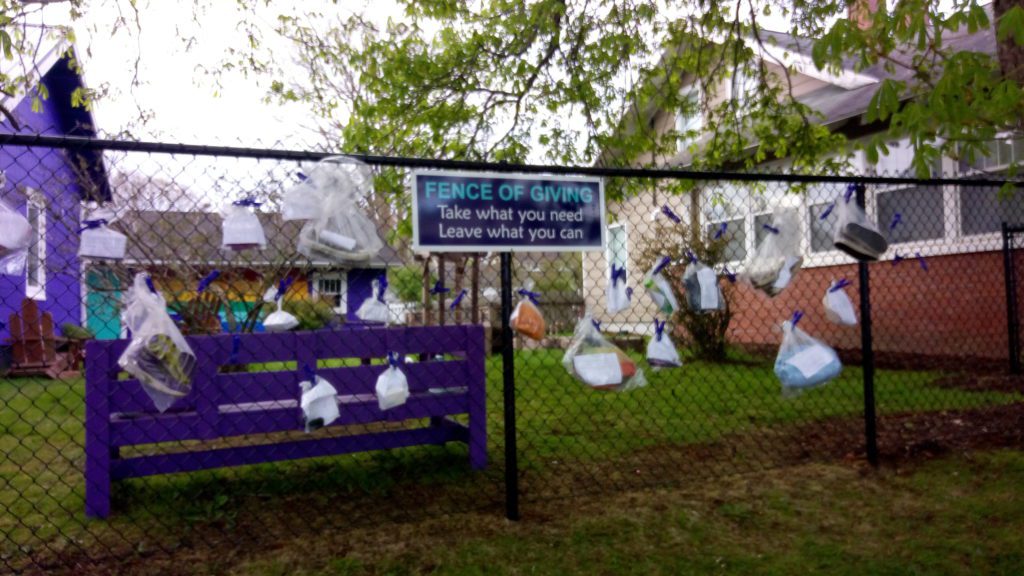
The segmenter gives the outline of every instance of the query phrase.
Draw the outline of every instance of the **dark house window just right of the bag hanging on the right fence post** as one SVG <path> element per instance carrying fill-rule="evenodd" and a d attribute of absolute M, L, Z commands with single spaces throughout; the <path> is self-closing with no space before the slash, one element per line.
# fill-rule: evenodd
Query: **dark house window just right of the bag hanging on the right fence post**
<path fill-rule="evenodd" d="M 914 187 L 879 192 L 876 202 L 879 229 L 890 243 L 937 240 L 945 235 L 941 188 Z M 897 212 L 900 221 L 890 230 Z"/>

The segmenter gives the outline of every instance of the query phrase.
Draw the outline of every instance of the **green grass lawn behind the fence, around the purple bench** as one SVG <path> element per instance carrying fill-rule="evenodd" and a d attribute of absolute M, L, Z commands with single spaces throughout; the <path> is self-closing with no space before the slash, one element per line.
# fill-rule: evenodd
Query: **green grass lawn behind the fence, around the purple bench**
<path fill-rule="evenodd" d="M 827 386 L 782 398 L 768 362 L 687 362 L 676 370 L 648 369 L 647 387 L 611 394 L 575 382 L 560 360 L 560 351 L 516 356 L 520 465 L 535 476 L 557 477 L 559 470 L 550 469 L 553 460 L 609 462 L 641 449 L 703 443 L 726 435 L 749 433 L 757 439 L 765 427 L 857 415 L 863 404 L 859 368 L 845 369 Z M 387 497 L 404 484 L 429 484 L 439 487 L 442 495 L 500 502 L 504 433 L 498 357 L 488 360 L 487 375 L 495 465 L 486 472 L 468 470 L 465 448 L 452 446 L 156 477 L 120 483 L 109 522 L 87 522 L 83 516 L 83 382 L 0 381 L 0 559 L 41 547 L 59 550 L 70 542 L 88 547 L 92 538 L 124 541 L 140 533 L 178 533 L 183 527 L 225 518 L 233 525 L 248 513 L 248 495 L 253 494 L 260 497 L 264 520 L 288 515 L 288 499 L 311 489 L 373 499 Z M 1020 394 L 931 386 L 939 375 L 879 371 L 880 413 L 1024 400 Z M 764 449 L 770 450 L 770 444 Z"/>

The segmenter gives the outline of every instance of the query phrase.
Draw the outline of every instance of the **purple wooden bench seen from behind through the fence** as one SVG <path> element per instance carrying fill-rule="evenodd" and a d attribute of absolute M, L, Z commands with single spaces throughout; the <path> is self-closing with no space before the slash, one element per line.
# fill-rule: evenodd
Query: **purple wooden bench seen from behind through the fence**
<path fill-rule="evenodd" d="M 233 339 L 238 338 L 238 345 Z M 283 334 L 217 335 L 188 338 L 197 355 L 191 393 L 164 414 L 136 380 L 118 380 L 118 358 L 126 340 L 93 340 L 86 345 L 85 512 L 106 518 L 111 483 L 125 478 L 183 472 L 280 460 L 347 454 L 458 441 L 469 445 L 469 461 L 487 463 L 483 328 L 480 326 L 368 328 Z M 385 412 L 374 387 L 385 365 L 319 368 L 338 389 L 341 418 L 330 426 L 427 420 L 426 425 L 336 436 L 317 430 L 300 439 L 270 438 L 259 445 L 231 447 L 218 439 L 302 429 L 298 406 L 303 367 L 317 360 L 385 358 L 388 352 L 456 360 L 404 364 L 412 393 L 403 405 Z M 296 362 L 297 370 L 221 373 L 225 365 Z M 468 414 L 469 424 L 449 418 Z M 124 446 L 201 441 L 176 451 L 155 446 L 148 455 L 121 457 Z M 141 449 L 140 451 L 144 451 Z M 159 452 L 159 453 L 158 453 Z"/>

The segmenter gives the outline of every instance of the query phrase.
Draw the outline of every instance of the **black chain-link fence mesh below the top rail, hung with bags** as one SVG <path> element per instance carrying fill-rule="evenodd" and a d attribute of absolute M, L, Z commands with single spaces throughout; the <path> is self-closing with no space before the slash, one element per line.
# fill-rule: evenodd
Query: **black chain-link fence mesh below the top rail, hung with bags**
<path fill-rule="evenodd" d="M 408 209 L 394 197 L 369 195 L 360 203 L 388 240 L 380 260 L 341 266 L 297 254 L 302 227 L 281 218 L 283 198 L 324 154 L 8 137 L 2 156 L 3 201 L 32 230 L 25 271 L 0 277 L 3 359 L 11 371 L 0 383 L 0 558 L 13 572 L 102 571 L 125 563 L 159 570 L 182 550 L 205 550 L 229 564 L 342 528 L 398 526 L 471 510 L 497 518 L 517 497 L 528 512 L 583 495 L 709 482 L 809 459 L 885 461 L 1006 443 L 1009 430 L 1021 429 L 1021 387 L 1002 375 L 1005 326 L 991 319 L 1006 314 L 999 222 L 1024 221 L 1024 204 L 1000 199 L 1000 182 L 591 169 L 609 178 L 684 178 L 690 187 L 669 195 L 652 183 L 627 200 L 609 201 L 603 252 L 505 256 L 507 284 L 539 294 L 548 320 L 545 337 L 535 341 L 501 334 L 502 258 L 414 254 L 401 235 L 392 234 Z M 378 171 L 382 189 L 399 189 L 401 170 L 411 167 L 588 171 L 362 159 L 395 170 Z M 868 219 L 890 241 L 880 261 L 859 268 L 833 243 L 851 180 L 863 184 L 858 196 Z M 261 203 L 251 209 L 265 247 L 222 249 L 219 212 L 249 199 Z M 97 225 L 127 237 L 125 259 L 78 257 L 91 215 L 83 201 L 90 200 L 112 200 L 117 207 L 115 221 Z M 779 230 L 783 221 L 797 223 Z M 753 274 L 759 247 L 776 234 L 796 235 L 799 272 L 778 290 L 755 289 L 744 273 Z M 645 287 L 647 273 L 666 257 L 663 274 L 679 304 L 671 314 Z M 723 310 L 693 313 L 701 304 L 688 300 L 687 288 L 693 288 L 683 279 L 693 257 L 714 270 Z M 612 266 L 626 271 L 632 292 L 613 312 Z M 861 292 L 868 271 L 869 297 Z M 207 338 L 193 341 L 205 342 L 197 356 L 218 386 L 197 382 L 196 404 L 155 416 L 137 383 L 124 375 L 112 382 L 115 392 L 128 392 L 124 398 L 112 393 L 108 401 L 108 408 L 121 402 L 120 411 L 102 412 L 116 416 L 101 444 L 110 453 L 100 451 L 105 456 L 98 462 L 136 458 L 137 464 L 113 465 L 114 476 L 119 465 L 121 472 L 134 465 L 145 474 L 114 479 L 109 515 L 90 520 L 86 475 L 97 452 L 87 445 L 86 423 L 97 412 L 90 410 L 95 405 L 83 374 L 102 372 L 111 366 L 103 362 L 119 353 L 117 344 L 108 349 L 103 342 L 127 335 L 121 313 L 137 272 L 152 276 L 183 332 Z M 382 274 L 396 325 L 482 325 L 482 368 L 475 367 L 476 352 L 457 341 L 458 332 L 424 328 L 382 340 L 360 322 L 355 312 L 373 297 L 373 281 Z M 829 322 L 823 310 L 841 280 L 850 283 L 837 291 L 854 304 L 857 326 Z M 459 298 L 464 289 L 467 295 Z M 299 331 L 260 334 L 279 291 Z M 778 293 L 766 293 L 773 291 Z M 28 316 L 35 308 L 38 321 L 23 322 L 26 302 Z M 868 347 L 861 331 L 865 302 Z M 803 313 L 799 327 L 834 347 L 844 366 L 821 387 L 783 396 L 775 356 L 781 324 L 797 312 Z M 585 314 L 621 351 L 620 370 L 642 371 L 645 386 L 592 389 L 566 371 L 563 356 Z M 15 315 L 24 326 L 38 327 L 22 326 L 15 337 L 7 322 Z M 648 362 L 655 320 L 666 323 L 663 337 L 674 341 L 682 366 L 655 369 Z M 514 396 L 503 387 L 497 354 L 503 348 L 514 359 Z M 27 366 L 26 351 L 38 352 L 42 366 Z M 102 351 L 101 359 L 90 359 L 91 351 Z M 414 397 L 419 395 L 406 407 L 410 412 L 393 418 L 368 408 L 376 404 L 373 380 L 385 369 L 388 352 L 402 353 L 402 366 L 415 374 Z M 306 367 L 335 380 L 346 397 L 341 411 L 348 425 L 302 433 L 298 382 L 309 376 Z M 466 387 L 460 379 L 481 370 L 485 401 L 452 389 Z M 872 387 L 873 398 L 865 397 Z M 211 398 L 201 390 L 217 392 Z M 505 399 L 516 403 L 514 429 L 505 427 Z M 872 400 L 877 455 L 865 448 L 876 423 L 865 420 L 865 402 Z M 488 462 L 474 470 L 481 446 L 474 452 L 472 438 L 478 437 L 459 431 L 464 428 L 458 424 L 471 428 L 481 413 Z M 214 423 L 227 421 L 231 434 L 214 430 Z M 172 428 L 177 436 L 168 436 Z M 511 452 L 508 434 L 516 444 Z M 310 438 L 353 453 L 323 456 L 300 446 Z M 376 450 L 385 447 L 376 438 L 407 447 Z M 503 456 L 517 461 L 507 468 Z M 168 469 L 162 467 L 167 462 L 195 471 L 156 474 Z M 227 465 L 244 462 L 261 463 Z M 337 553 L 344 552 L 342 545 Z"/>

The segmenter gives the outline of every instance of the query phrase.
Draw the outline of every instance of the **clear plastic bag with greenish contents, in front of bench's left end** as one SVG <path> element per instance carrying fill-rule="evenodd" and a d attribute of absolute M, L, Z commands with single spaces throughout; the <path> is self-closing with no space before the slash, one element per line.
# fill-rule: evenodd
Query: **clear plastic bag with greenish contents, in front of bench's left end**
<path fill-rule="evenodd" d="M 126 372 L 138 379 L 163 412 L 191 390 L 196 354 L 167 314 L 167 302 L 153 288 L 145 273 L 135 275 L 122 313 L 131 331 L 131 342 L 118 359 Z"/>

